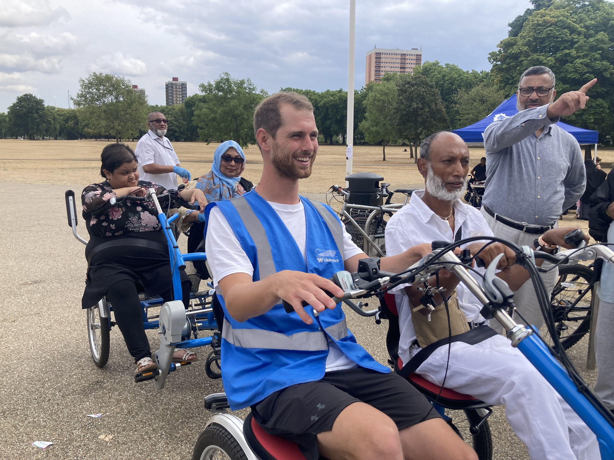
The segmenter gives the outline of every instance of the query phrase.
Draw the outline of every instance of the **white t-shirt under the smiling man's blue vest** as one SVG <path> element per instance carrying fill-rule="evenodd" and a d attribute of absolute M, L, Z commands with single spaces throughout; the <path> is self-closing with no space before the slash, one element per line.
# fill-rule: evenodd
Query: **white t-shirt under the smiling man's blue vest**
<path fill-rule="evenodd" d="M 305 210 L 303 203 L 299 204 L 279 204 L 268 202 L 278 213 L 279 218 L 286 224 L 286 227 L 297 242 L 303 258 L 306 261 L 306 223 Z M 228 275 L 235 273 L 246 273 L 254 275 L 254 267 L 249 261 L 241 243 L 236 239 L 235 232 L 230 228 L 230 224 L 222 212 L 216 207 L 209 214 L 207 238 L 205 240 L 205 251 L 207 260 L 211 268 L 213 284 L 217 288 L 219 281 Z M 352 237 L 343 228 L 343 259 L 347 260 L 362 250 L 354 244 Z M 326 372 L 330 370 L 351 369 L 357 364 L 344 355 L 343 351 L 328 337 L 328 358 L 326 359 Z"/>

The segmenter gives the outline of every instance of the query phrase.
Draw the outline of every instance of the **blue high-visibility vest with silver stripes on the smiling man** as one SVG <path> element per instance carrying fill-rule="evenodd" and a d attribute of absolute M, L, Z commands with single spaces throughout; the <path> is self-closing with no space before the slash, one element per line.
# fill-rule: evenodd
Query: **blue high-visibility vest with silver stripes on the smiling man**
<path fill-rule="evenodd" d="M 305 208 L 306 263 L 292 234 L 268 202 L 255 191 L 241 197 L 212 202 L 235 232 L 254 266 L 254 282 L 281 270 L 297 270 L 330 278 L 343 270 L 343 229 L 330 207 L 300 197 Z M 207 219 L 208 220 L 208 219 Z M 206 228 L 207 231 L 216 231 Z M 222 331 L 222 380 L 232 410 L 256 404 L 266 396 L 297 383 L 324 377 L 328 340 L 359 366 L 391 372 L 362 348 L 346 326 L 341 303 L 305 324 L 296 312 L 286 313 L 282 304 L 263 315 L 239 323 L 224 310 Z"/>

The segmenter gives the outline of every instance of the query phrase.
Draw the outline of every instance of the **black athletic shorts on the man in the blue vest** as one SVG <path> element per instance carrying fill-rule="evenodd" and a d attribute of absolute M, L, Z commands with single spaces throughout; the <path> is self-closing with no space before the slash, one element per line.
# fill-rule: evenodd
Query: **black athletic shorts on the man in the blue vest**
<path fill-rule="evenodd" d="M 297 443 L 306 458 L 317 460 L 316 435 L 332 430 L 341 411 L 359 401 L 392 418 L 399 430 L 440 418 L 405 378 L 364 367 L 333 370 L 322 380 L 276 391 L 252 405 L 252 412 L 265 431 Z"/>

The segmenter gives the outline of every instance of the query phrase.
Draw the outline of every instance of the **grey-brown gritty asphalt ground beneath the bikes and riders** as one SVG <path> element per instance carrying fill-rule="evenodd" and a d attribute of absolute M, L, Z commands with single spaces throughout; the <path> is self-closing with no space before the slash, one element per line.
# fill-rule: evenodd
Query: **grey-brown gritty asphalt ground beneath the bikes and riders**
<path fill-rule="evenodd" d="M 81 188 L 73 188 L 77 196 Z M 171 374 L 161 391 L 150 382 L 134 383 L 133 360 L 117 328 L 109 363 L 94 366 L 80 309 L 84 246 L 68 227 L 67 189 L 0 183 L 0 458 L 189 459 L 210 416 L 204 396 L 223 391 L 222 382 L 209 380 L 196 363 Z M 87 234 L 82 220 L 78 229 Z M 352 313 L 348 323 L 359 342 L 386 362 L 387 326 Z M 156 335 L 149 332 L 153 350 Z M 572 351 L 585 369 L 586 339 Z M 593 383 L 593 373 L 585 377 Z M 86 416 L 91 413 L 104 415 Z M 489 421 L 495 459 L 528 458 L 502 408 Z M 55 444 L 40 450 L 31 445 L 36 440 Z"/>

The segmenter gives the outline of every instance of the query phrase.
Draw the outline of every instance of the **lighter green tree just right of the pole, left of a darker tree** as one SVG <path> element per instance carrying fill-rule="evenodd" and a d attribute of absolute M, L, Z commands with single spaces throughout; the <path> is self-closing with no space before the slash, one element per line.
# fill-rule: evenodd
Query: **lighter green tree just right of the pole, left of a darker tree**
<path fill-rule="evenodd" d="M 360 122 L 360 130 L 367 142 L 382 143 L 382 161 L 386 161 L 386 144 L 397 139 L 397 97 L 397 85 L 384 81 L 374 84 L 362 101 L 365 118 Z"/>

